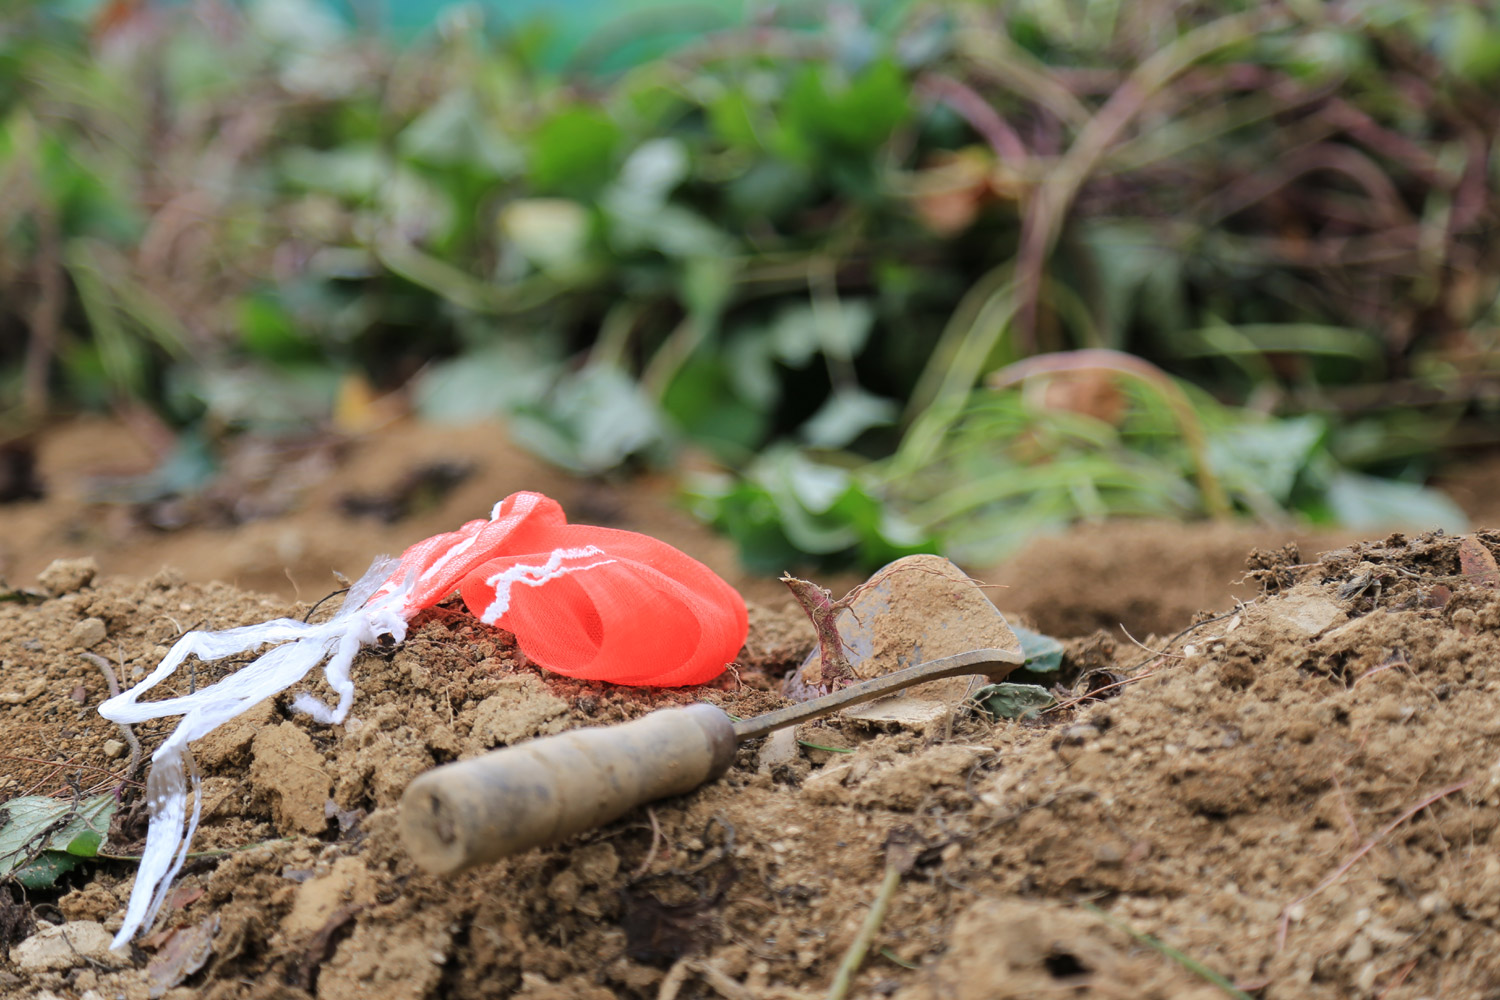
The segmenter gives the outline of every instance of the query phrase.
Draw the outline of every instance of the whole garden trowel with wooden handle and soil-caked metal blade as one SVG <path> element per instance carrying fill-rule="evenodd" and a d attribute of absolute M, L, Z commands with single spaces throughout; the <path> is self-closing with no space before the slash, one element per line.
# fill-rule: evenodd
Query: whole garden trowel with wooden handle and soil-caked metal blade
<path fill-rule="evenodd" d="M 435 768 L 402 796 L 406 849 L 441 874 L 556 844 L 718 778 L 741 742 L 860 705 L 872 718 L 926 718 L 1024 661 L 984 592 L 938 556 L 898 559 L 840 604 L 852 676 L 819 676 L 832 690 L 741 721 L 706 703 L 658 709 Z"/>

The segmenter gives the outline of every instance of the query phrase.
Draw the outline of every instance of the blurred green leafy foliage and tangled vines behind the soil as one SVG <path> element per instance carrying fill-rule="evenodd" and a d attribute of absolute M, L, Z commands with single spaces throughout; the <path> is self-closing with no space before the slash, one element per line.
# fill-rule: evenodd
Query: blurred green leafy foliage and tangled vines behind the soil
<path fill-rule="evenodd" d="M 1407 483 L 1494 436 L 1492 10 L 864 10 L 558 72 L 472 7 L 394 51 L 304 0 L 12 4 L 10 415 L 201 442 L 360 384 L 584 474 L 692 447 L 694 508 L 776 568 L 1114 513 L 1452 520 Z M 1080 348 L 1204 387 L 1206 444 L 1166 376 L 981 388 Z M 1378 511 L 1352 469 L 1394 477 Z"/>

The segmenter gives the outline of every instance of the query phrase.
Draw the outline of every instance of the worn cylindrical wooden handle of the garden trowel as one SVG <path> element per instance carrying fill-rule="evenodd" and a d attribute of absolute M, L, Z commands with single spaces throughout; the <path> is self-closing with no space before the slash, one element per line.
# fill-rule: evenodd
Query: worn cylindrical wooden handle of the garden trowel
<path fill-rule="evenodd" d="M 462 871 L 692 792 L 734 757 L 734 723 L 712 705 L 576 729 L 420 775 L 400 799 L 400 835 L 428 871 Z"/>

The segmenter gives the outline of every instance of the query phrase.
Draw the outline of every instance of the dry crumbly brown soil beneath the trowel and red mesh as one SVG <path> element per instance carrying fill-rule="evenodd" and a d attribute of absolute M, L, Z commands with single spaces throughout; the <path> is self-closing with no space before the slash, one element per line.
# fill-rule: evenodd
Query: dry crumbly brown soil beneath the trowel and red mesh
<path fill-rule="evenodd" d="M 300 616 L 328 567 L 354 576 L 513 489 L 550 492 L 580 520 L 615 511 L 732 574 L 732 553 L 670 511 L 664 484 L 579 484 L 465 433 L 440 448 L 398 427 L 352 445 L 342 481 L 312 483 L 290 517 L 146 541 L 69 499 L 75 466 L 44 448 L 52 499 L 0 514 L 9 577 L 33 586 L 51 556 L 82 553 L 104 573 L 60 567 L 45 597 L 0 604 L 0 799 L 118 784 L 128 751 L 105 751 L 120 736 L 94 712 L 105 678 L 86 652 L 129 681 L 183 628 Z M 398 525 L 338 513 L 338 493 L 386 489 L 412 456 L 484 465 Z M 296 558 L 256 549 L 286 532 Z M 771 586 L 735 576 L 754 603 L 738 673 L 622 690 L 546 676 L 504 633 L 436 609 L 399 649 L 358 660 L 348 724 L 294 718 L 284 697 L 195 747 L 195 849 L 231 853 L 178 880 L 164 924 L 182 933 L 147 939 L 126 969 L 82 945 L 50 969 L 10 952 L 0 996 L 147 997 L 165 955 L 196 949 L 206 964 L 166 997 L 824 997 L 888 865 L 894 895 L 850 997 L 1224 996 L 1197 969 L 1266 999 L 1492 996 L 1500 591 L 1473 552 L 1461 565 L 1456 538 L 1394 535 L 1317 559 L 1284 535 L 1132 525 L 1038 543 L 981 576 L 1008 585 L 990 592 L 1012 621 L 1080 636 L 1065 676 L 1108 672 L 1120 684 L 1101 700 L 1028 723 L 956 711 L 921 733 L 810 724 L 790 760 L 742 747 L 693 795 L 447 879 L 417 870 L 396 835 L 416 774 L 696 699 L 766 711 L 813 636 Z M 273 571 L 284 564 L 304 600 Z M 1228 615 L 1196 615 L 1214 610 Z M 1194 621 L 1170 645 L 1152 636 Z M 1164 654 L 1118 630 L 1088 636 L 1119 622 Z M 200 666 L 196 681 L 226 669 Z M 147 751 L 164 733 L 136 727 Z M 138 802 L 134 784 L 124 795 Z M 108 850 L 134 853 L 142 835 L 141 811 L 123 808 Z M 94 940 L 96 924 L 118 927 L 132 874 L 108 861 L 57 891 L 0 889 L 0 939 L 58 924 Z"/>

